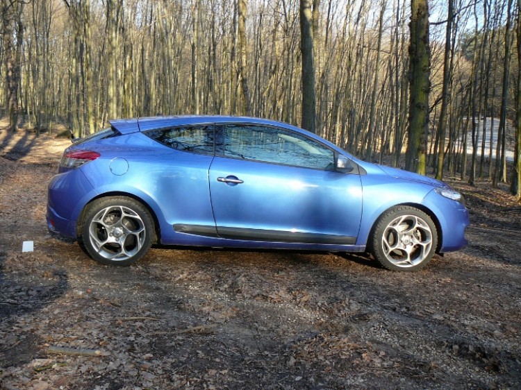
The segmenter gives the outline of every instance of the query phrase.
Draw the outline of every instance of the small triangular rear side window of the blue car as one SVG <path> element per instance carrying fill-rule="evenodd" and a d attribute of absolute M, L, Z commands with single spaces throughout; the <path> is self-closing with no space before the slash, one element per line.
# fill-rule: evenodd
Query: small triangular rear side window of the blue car
<path fill-rule="evenodd" d="M 213 126 L 179 126 L 144 133 L 169 148 L 213 155 Z"/>

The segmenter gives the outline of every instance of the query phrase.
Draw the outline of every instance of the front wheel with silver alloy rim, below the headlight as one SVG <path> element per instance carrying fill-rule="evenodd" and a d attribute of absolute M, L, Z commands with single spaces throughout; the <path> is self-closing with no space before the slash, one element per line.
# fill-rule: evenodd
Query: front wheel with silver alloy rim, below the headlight
<path fill-rule="evenodd" d="M 372 255 L 386 269 L 418 271 L 426 266 L 438 246 L 431 217 L 410 206 L 392 207 L 375 224 L 369 241 Z"/>

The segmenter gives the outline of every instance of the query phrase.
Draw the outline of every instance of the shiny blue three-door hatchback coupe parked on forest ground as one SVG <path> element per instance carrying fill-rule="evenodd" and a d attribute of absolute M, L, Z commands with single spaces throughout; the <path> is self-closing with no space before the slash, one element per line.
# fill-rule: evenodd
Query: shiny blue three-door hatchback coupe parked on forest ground
<path fill-rule="evenodd" d="M 98 262 L 152 244 L 370 252 L 416 271 L 467 244 L 463 197 L 306 130 L 247 117 L 120 119 L 74 142 L 49 184 L 49 230 Z"/>

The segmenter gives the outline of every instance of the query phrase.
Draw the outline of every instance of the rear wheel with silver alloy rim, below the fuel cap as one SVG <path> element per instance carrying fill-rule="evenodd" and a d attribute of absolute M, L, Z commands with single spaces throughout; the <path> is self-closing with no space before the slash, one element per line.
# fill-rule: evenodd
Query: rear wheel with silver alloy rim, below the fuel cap
<path fill-rule="evenodd" d="M 78 238 L 97 262 L 129 266 L 147 253 L 154 234 L 154 221 L 144 205 L 132 198 L 110 196 L 88 206 Z"/>

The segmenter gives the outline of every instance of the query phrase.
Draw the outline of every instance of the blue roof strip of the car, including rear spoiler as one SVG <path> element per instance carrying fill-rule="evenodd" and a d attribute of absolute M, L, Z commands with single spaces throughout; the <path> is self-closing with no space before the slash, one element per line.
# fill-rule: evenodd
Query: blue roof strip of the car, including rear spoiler
<path fill-rule="evenodd" d="M 116 128 L 119 133 L 122 134 L 136 133 L 138 131 L 154 130 L 179 125 L 223 123 L 267 124 L 273 126 L 284 126 L 301 131 L 301 129 L 295 126 L 290 124 L 283 124 L 279 121 L 253 117 L 235 117 L 230 115 L 175 115 L 168 117 L 113 119 L 110 121 L 110 125 Z"/>

